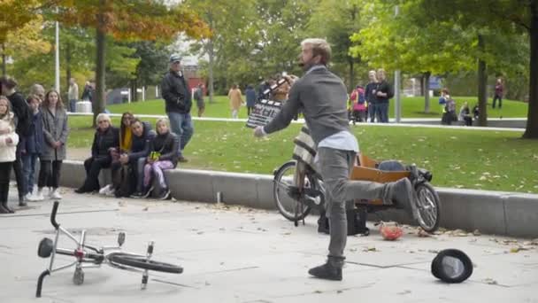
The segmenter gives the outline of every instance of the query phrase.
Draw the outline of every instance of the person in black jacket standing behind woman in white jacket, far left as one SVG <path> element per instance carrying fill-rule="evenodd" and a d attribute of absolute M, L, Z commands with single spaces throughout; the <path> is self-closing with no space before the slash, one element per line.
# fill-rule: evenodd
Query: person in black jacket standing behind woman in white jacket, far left
<path fill-rule="evenodd" d="M 17 121 L 15 132 L 19 138 L 21 136 L 26 136 L 30 125 L 30 108 L 27 105 L 27 101 L 15 90 L 17 87 L 17 82 L 15 80 L 8 77 L 2 77 L 0 78 L 0 83 L 2 84 L 2 94 L 10 100 L 12 111 L 15 114 L 15 119 Z M 24 194 L 27 190 L 27 186 L 24 182 L 24 175 L 22 174 L 22 161 L 20 156 L 19 144 L 17 145 L 17 158 L 13 162 L 13 170 L 15 171 L 17 190 L 19 191 L 19 206 L 26 206 L 27 203 L 24 201 Z"/>

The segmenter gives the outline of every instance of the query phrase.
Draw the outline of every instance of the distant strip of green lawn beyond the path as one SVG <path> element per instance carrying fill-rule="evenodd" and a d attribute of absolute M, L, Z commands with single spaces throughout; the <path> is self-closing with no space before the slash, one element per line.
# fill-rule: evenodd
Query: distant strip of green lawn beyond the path
<path fill-rule="evenodd" d="M 457 112 L 466 101 L 469 106 L 477 103 L 477 97 L 454 97 L 457 103 Z M 402 117 L 403 118 L 440 118 L 441 106 L 438 104 L 438 97 L 432 97 L 430 100 L 430 113 L 424 113 L 424 97 L 404 97 L 402 98 Z M 231 118 L 231 112 L 226 96 L 215 97 L 215 102 L 209 104 L 209 98 L 206 98 L 206 107 L 204 117 L 214 118 Z M 503 109 L 495 110 L 491 108 L 492 99 L 488 99 L 488 117 L 490 118 L 526 118 L 527 104 L 519 101 L 503 100 Z M 390 102 L 389 118 L 394 118 L 394 99 Z M 143 114 L 165 114 L 164 100 L 148 100 L 145 102 L 139 101 L 131 104 L 110 105 L 107 109 L 111 113 L 124 113 L 130 111 L 132 113 Z M 192 115 L 196 116 L 196 105 L 193 106 Z M 242 107 L 239 112 L 240 118 L 247 118 L 247 109 Z"/>

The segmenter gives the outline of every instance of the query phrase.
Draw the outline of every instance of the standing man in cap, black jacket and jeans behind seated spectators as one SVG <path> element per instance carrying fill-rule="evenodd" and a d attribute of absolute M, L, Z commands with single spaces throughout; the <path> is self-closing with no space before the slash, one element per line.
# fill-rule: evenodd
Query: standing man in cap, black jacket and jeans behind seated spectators
<path fill-rule="evenodd" d="M 166 114 L 174 134 L 180 138 L 180 162 L 187 162 L 183 150 L 194 133 L 190 116 L 190 91 L 187 81 L 181 72 L 181 57 L 177 54 L 170 56 L 170 70 L 161 82 L 162 95 L 165 98 Z"/>

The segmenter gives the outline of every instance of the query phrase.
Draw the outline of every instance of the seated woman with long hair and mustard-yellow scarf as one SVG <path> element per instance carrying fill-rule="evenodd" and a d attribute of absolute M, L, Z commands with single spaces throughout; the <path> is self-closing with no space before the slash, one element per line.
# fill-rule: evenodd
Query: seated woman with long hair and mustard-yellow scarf
<path fill-rule="evenodd" d="M 99 190 L 100 194 L 104 195 L 113 195 L 114 190 L 116 190 L 119 187 L 119 184 L 121 183 L 122 175 L 120 168 L 122 167 L 121 163 L 119 163 L 119 157 L 120 155 L 127 154 L 129 151 L 131 151 L 131 144 L 133 143 L 132 136 L 133 133 L 131 132 L 131 120 L 133 120 L 134 116 L 133 113 L 123 113 L 121 115 L 121 125 L 119 127 L 119 149 L 115 149 L 112 152 L 112 164 L 111 164 L 111 171 L 112 171 L 112 184 L 108 184 L 104 186 L 101 190 Z M 130 195 L 130 193 L 129 193 Z"/>

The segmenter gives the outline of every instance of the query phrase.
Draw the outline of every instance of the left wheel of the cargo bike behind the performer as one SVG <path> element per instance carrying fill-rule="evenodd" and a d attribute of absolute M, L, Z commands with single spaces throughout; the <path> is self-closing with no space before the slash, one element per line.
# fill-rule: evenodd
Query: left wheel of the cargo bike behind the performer
<path fill-rule="evenodd" d="M 284 218 L 289 221 L 303 220 L 310 211 L 311 206 L 306 206 L 304 203 L 291 198 L 288 195 L 288 187 L 296 186 L 294 176 L 296 173 L 296 161 L 291 160 L 284 163 L 274 174 L 273 179 L 273 197 L 274 204 Z M 305 188 L 316 188 L 316 183 L 310 175 L 304 177 Z"/>

